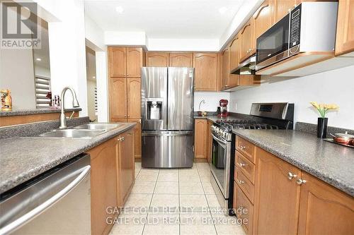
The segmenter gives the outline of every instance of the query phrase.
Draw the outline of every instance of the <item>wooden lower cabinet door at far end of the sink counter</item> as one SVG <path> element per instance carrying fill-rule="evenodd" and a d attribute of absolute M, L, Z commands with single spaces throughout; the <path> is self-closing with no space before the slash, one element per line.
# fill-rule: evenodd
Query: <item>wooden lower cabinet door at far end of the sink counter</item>
<path fill-rule="evenodd" d="M 125 205 L 135 181 L 134 165 L 134 133 L 133 130 L 125 131 L 118 135 L 118 162 L 119 174 L 119 204 Z"/>

